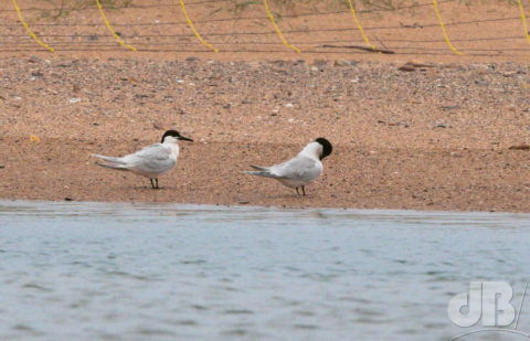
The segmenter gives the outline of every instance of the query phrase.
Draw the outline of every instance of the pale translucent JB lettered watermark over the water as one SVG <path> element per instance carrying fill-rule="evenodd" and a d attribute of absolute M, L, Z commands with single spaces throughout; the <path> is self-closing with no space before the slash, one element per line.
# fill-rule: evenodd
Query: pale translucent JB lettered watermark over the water
<path fill-rule="evenodd" d="M 473 330 L 454 337 L 451 340 L 463 340 L 464 337 L 480 332 L 508 332 L 530 338 L 530 333 L 517 330 L 521 315 L 528 283 L 519 307 L 513 306 L 513 288 L 506 281 L 471 281 L 469 290 L 453 297 L 447 305 L 449 320 L 462 328 Z M 511 327 L 508 327 L 511 326 Z"/>

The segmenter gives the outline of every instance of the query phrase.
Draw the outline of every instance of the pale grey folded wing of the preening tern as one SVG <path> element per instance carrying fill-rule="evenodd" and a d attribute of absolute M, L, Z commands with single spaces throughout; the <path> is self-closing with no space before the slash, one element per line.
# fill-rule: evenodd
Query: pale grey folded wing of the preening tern
<path fill-rule="evenodd" d="M 269 170 L 279 179 L 310 181 L 320 175 L 322 166 L 312 158 L 298 154 L 287 162 L 271 167 Z"/>

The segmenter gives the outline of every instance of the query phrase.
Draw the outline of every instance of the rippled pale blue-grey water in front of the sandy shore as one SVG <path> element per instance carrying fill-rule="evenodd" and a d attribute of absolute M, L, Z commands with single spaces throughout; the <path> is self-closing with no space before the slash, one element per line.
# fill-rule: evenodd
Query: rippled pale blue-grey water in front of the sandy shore
<path fill-rule="evenodd" d="M 471 280 L 510 283 L 519 307 L 529 227 L 524 214 L 0 202 L 0 340 L 449 340 L 474 330 L 447 317 Z"/>

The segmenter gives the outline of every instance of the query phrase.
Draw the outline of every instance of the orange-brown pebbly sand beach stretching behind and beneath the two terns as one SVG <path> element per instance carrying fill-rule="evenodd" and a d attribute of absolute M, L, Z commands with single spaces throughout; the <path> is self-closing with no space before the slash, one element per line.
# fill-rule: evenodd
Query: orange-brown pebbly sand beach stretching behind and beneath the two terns
<path fill-rule="evenodd" d="M 518 15 L 513 7 L 496 8 L 494 14 L 486 6 L 479 9 L 484 13 L 462 11 L 458 3 L 444 7 L 458 17 L 452 20 L 460 21 L 485 13 Z M 13 13 L 1 13 L 18 23 Z M 142 13 L 160 21 L 167 15 Z M 427 15 L 422 13 L 385 13 L 378 23 L 382 18 L 389 25 L 406 25 L 421 22 Z M 73 12 L 64 20 L 91 21 L 96 14 Z M 116 10 L 112 18 L 120 19 L 118 14 L 134 18 L 138 12 Z M 370 15 L 361 18 L 373 23 Z M 318 18 L 293 20 L 296 29 L 311 26 Z M 487 24 L 498 36 L 504 30 L 521 31 L 520 22 L 509 23 Z M 241 23 L 242 30 L 252 29 L 245 24 L 251 25 Z M 213 31 L 209 25 L 213 23 L 202 25 L 205 32 Z M 466 36 L 480 36 L 488 26 L 448 28 L 465 49 L 470 44 L 463 41 Z M 45 38 L 52 29 L 39 31 Z M 104 29 L 98 34 L 108 40 Z M 13 30 L 24 33 L 23 28 Z M 406 35 L 401 32 L 395 34 Z M 417 40 L 433 36 L 426 29 L 414 34 Z M 489 44 L 521 51 L 464 56 L 451 50 L 395 55 L 326 53 L 329 49 L 318 54 L 204 50 L 177 55 L 115 47 L 3 51 L 0 198 L 530 212 L 530 49 L 518 34 L 519 40 Z M 292 33 L 289 39 L 303 36 Z M 447 49 L 444 44 L 442 36 L 439 49 Z M 400 70 L 407 61 L 415 66 Z M 161 190 L 151 190 L 145 178 L 99 168 L 91 158 L 93 152 L 134 152 L 171 128 L 195 142 L 180 143 L 178 164 L 160 178 Z M 284 161 L 317 137 L 328 138 L 335 149 L 305 198 L 241 173 L 248 164 Z"/>

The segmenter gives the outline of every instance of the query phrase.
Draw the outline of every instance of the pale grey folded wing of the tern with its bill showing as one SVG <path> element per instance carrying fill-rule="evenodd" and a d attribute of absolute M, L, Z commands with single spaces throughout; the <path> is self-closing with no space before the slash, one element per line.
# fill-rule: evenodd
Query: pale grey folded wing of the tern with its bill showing
<path fill-rule="evenodd" d="M 142 172 L 165 172 L 174 167 L 176 160 L 170 158 L 170 152 L 161 143 L 153 143 L 136 153 L 126 156 L 123 160 L 129 168 Z"/>

